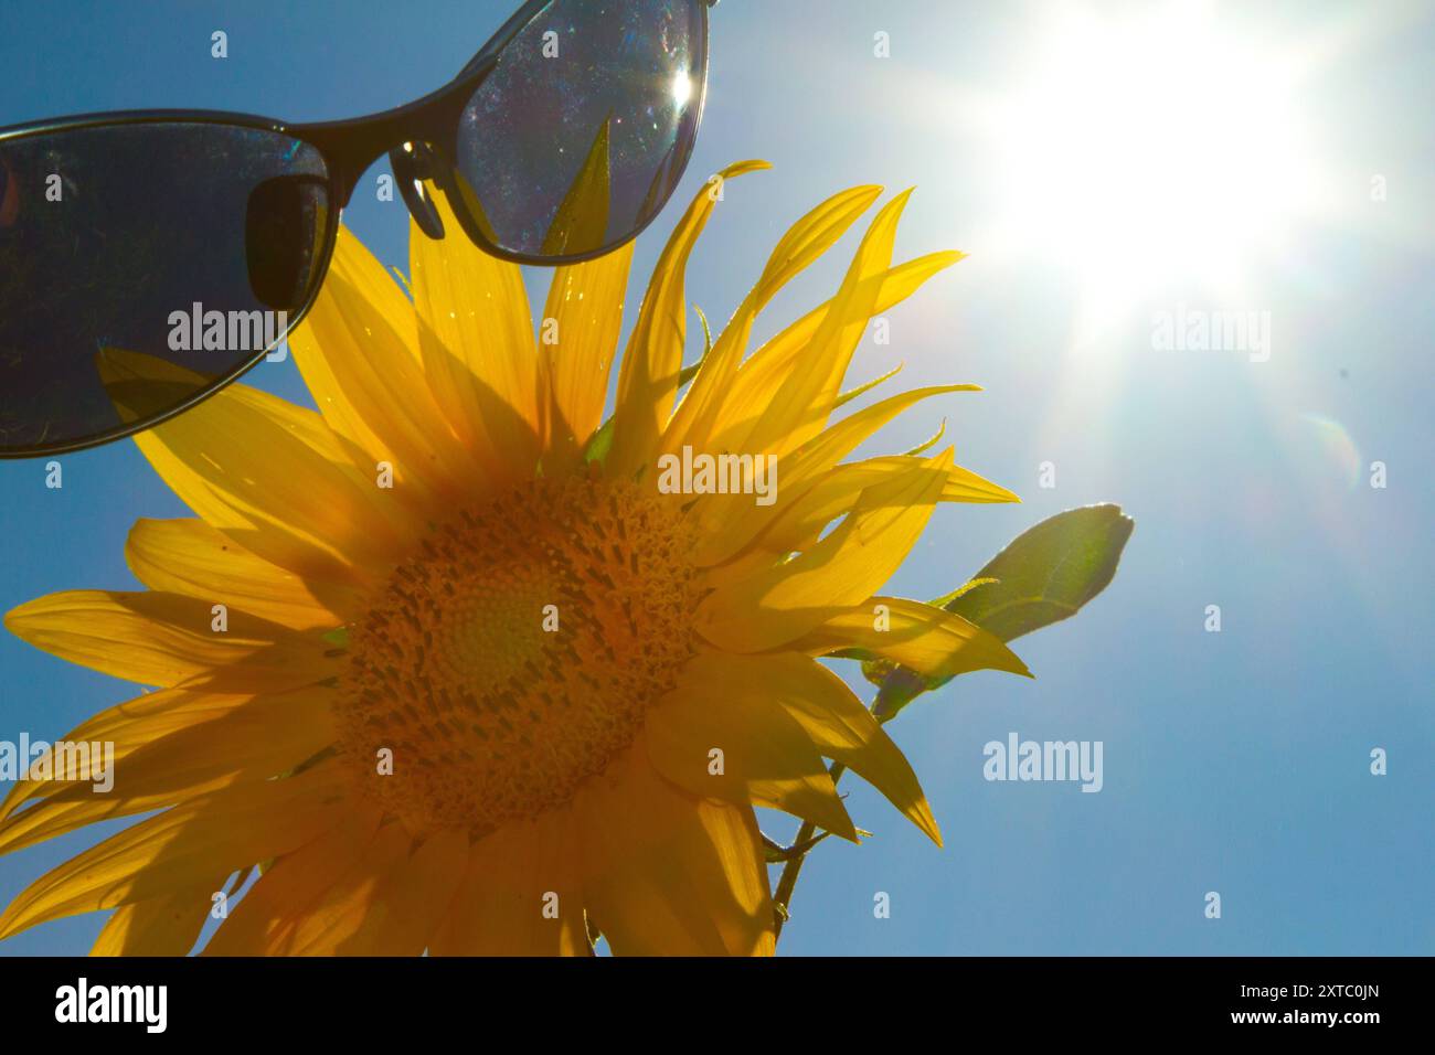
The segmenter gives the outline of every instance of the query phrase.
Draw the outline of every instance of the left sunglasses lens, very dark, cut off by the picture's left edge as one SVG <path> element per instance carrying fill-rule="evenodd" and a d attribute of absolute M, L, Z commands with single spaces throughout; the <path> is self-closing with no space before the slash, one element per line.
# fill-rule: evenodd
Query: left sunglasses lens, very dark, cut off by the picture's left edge
<path fill-rule="evenodd" d="M 0 142 L 0 454 L 149 422 L 283 336 L 329 212 L 313 146 L 128 123 Z"/>

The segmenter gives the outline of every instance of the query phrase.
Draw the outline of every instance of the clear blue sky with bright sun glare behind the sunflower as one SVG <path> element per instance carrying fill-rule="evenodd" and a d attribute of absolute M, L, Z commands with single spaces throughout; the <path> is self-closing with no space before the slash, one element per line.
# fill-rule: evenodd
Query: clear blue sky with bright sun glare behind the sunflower
<path fill-rule="evenodd" d="M 0 122 L 149 106 L 366 113 L 441 85 L 508 9 L 30 4 L 0 34 Z M 1435 950 L 1425 589 L 1435 16 L 1396 3 L 1243 9 L 1204 11 L 1214 50 L 1182 50 L 1191 37 L 1180 22 L 1135 33 L 1145 80 L 1112 98 L 1149 96 L 1155 109 L 1125 123 L 1122 111 L 1088 133 L 1079 122 L 1101 109 L 1096 95 L 1072 111 L 1081 135 L 1068 142 L 1052 122 L 1035 149 L 1017 125 L 1032 106 L 1063 112 L 1042 86 L 1059 63 L 1039 43 L 1063 37 L 1052 33 L 1056 4 L 725 0 L 715 13 L 707 111 L 677 200 L 739 158 L 773 169 L 728 188 L 689 270 L 692 301 L 715 323 L 728 317 L 778 233 L 851 184 L 917 187 L 898 257 L 971 254 L 890 313 L 890 344 L 865 340 L 854 379 L 903 360 L 905 386 L 983 385 L 926 405 L 872 449 L 910 446 L 946 416 L 957 459 L 1025 501 L 940 510 L 891 591 L 944 593 L 1063 508 L 1115 501 L 1137 521 L 1111 589 L 1017 642 L 1036 680 L 961 677 L 890 726 L 946 848 L 854 781 L 854 820 L 875 837 L 814 853 L 788 953 Z M 1161 6 L 1065 10 L 1096 26 L 1099 43 Z M 210 57 L 215 29 L 228 33 L 222 62 Z M 887 57 L 874 55 L 875 34 Z M 1256 56 L 1243 67 L 1257 72 L 1250 83 L 1280 82 L 1256 139 L 1228 135 L 1257 109 L 1244 96 L 1200 126 L 1161 109 L 1182 85 L 1195 86 L 1195 106 L 1215 99 L 1231 78 L 1203 70 L 1220 69 L 1227 44 Z M 1129 53 L 1076 59 L 1081 82 Z M 1192 93 L 1170 98 L 1177 108 Z M 1279 167 L 1261 151 L 1287 132 L 1299 144 L 1279 161 L 1294 164 L 1267 185 Z M 1168 152 L 1142 149 L 1154 141 Z M 360 182 L 346 220 L 403 266 L 403 207 L 372 189 L 382 171 Z M 1192 174 L 1184 200 L 1144 197 Z M 1081 197 L 1068 202 L 1073 187 Z M 1192 227 L 1215 187 L 1225 198 Z M 1149 211 L 1134 220 L 1128 205 Z M 639 241 L 636 276 L 646 280 L 676 212 Z M 1211 231 L 1223 237 L 1197 268 L 1184 240 Z M 852 248 L 850 237 L 794 283 L 758 336 L 828 296 Z M 547 274 L 530 278 L 538 300 Z M 1178 306 L 1267 313 L 1269 360 L 1157 349 L 1154 319 Z M 629 324 L 634 307 L 636 297 Z M 306 399 L 291 365 L 251 380 Z M 1373 461 L 1386 465 L 1385 488 L 1369 487 Z M 1043 462 L 1053 488 L 1039 485 Z M 63 465 L 53 491 L 42 462 L 0 464 L 0 609 L 60 589 L 132 587 L 129 525 L 184 514 L 132 444 Z M 1204 629 L 1210 604 L 1221 607 L 1220 633 Z M 126 693 L 0 637 L 0 739 L 53 739 Z M 1102 741 L 1104 789 L 984 781 L 982 748 L 1009 732 Z M 1378 746 L 1385 777 L 1369 772 Z M 766 825 L 789 834 L 778 818 Z M 92 841 L 79 833 L 0 858 L 0 900 Z M 1211 890 L 1220 920 L 1203 914 Z M 891 897 L 890 919 L 874 919 L 877 891 Z M 46 924 L 0 953 L 79 953 L 100 924 Z"/>

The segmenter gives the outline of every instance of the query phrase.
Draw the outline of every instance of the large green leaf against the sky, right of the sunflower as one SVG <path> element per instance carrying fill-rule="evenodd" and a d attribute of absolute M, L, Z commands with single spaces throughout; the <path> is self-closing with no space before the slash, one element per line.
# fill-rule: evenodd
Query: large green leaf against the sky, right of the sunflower
<path fill-rule="evenodd" d="M 1013 538 L 964 586 L 931 601 L 1010 642 L 1081 611 L 1116 574 L 1135 521 L 1119 505 L 1085 505 L 1058 512 Z M 874 712 L 893 718 L 923 692 L 950 677 L 930 679 L 888 660 L 867 659 L 862 675 L 878 686 Z"/>

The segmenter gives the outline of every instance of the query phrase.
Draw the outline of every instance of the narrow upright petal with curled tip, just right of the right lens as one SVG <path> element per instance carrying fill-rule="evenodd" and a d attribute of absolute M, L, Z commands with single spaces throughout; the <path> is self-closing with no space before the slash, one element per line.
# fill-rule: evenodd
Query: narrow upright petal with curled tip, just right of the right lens
<path fill-rule="evenodd" d="M 697 235 L 718 201 L 720 181 L 763 168 L 771 165 L 765 161 L 739 161 L 722 169 L 716 177 L 719 182 L 709 182 L 697 192 L 663 247 L 618 373 L 613 451 L 607 461 L 608 469 L 617 477 L 630 477 L 651 461 L 657 438 L 672 413 L 687 334 L 683 273 Z"/>

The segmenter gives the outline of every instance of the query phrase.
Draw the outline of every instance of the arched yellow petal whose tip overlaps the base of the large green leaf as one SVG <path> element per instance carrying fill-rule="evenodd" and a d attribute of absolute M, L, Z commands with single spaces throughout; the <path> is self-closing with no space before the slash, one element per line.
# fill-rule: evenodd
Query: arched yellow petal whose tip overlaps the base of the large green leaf
<path fill-rule="evenodd" d="M 878 630 L 877 606 L 885 606 L 885 629 Z M 993 633 L 961 616 L 903 597 L 872 597 L 870 603 L 832 616 L 795 642 L 795 649 L 825 655 L 864 649 L 927 677 L 951 677 L 970 670 L 1026 675 L 1017 656 Z"/>

